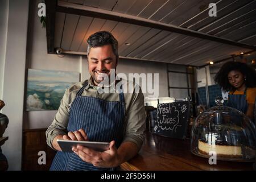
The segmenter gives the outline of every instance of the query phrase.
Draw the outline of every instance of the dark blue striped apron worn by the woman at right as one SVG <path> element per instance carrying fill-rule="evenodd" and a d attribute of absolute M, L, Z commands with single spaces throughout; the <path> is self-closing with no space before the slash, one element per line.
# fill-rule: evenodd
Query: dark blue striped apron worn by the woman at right
<path fill-rule="evenodd" d="M 246 100 L 246 90 L 243 94 L 229 94 L 228 106 L 240 110 L 242 113 L 246 114 L 247 111 L 247 100 Z"/>

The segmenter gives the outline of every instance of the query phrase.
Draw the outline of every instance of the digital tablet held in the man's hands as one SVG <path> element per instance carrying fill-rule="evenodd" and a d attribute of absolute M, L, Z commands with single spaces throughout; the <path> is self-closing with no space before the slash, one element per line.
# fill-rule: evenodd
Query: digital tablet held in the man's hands
<path fill-rule="evenodd" d="M 63 152 L 73 152 L 73 146 L 84 146 L 88 148 L 92 148 L 96 151 L 106 151 L 109 150 L 109 142 L 89 142 L 89 141 L 76 141 L 76 140 L 59 140 L 57 139 L 59 146 Z"/>

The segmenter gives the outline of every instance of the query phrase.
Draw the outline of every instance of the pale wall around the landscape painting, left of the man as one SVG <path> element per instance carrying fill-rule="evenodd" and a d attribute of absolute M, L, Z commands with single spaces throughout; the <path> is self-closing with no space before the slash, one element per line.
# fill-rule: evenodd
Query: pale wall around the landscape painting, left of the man
<path fill-rule="evenodd" d="M 27 38 L 27 69 L 48 69 L 55 71 L 80 72 L 81 56 L 59 56 L 47 54 L 46 28 L 42 28 L 38 16 L 38 3 L 40 0 L 31 1 L 30 19 Z M 27 81 L 27 78 L 26 78 Z M 26 92 L 26 88 L 25 88 Z M 26 102 L 26 98 L 24 98 Z M 24 111 L 23 129 L 39 129 L 48 127 L 56 110 L 49 111 Z"/>

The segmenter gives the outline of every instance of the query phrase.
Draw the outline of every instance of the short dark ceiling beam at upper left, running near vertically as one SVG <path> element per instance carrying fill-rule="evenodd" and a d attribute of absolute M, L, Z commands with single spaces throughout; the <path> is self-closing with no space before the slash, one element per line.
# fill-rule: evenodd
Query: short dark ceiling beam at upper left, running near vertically
<path fill-rule="evenodd" d="M 55 35 L 55 14 L 57 0 L 46 0 L 46 35 L 47 35 L 47 52 L 55 53 L 54 35 Z"/>

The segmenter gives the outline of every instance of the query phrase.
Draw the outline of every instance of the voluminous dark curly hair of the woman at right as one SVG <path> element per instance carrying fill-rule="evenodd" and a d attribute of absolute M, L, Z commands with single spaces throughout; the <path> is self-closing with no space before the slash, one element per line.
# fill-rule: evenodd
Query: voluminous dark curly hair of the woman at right
<path fill-rule="evenodd" d="M 221 86 L 224 92 L 235 91 L 232 85 L 230 85 L 228 80 L 228 74 L 230 71 L 239 71 L 242 73 L 243 76 L 246 77 L 245 79 L 245 86 L 248 88 L 256 87 L 256 71 L 254 68 L 250 67 L 246 63 L 229 61 L 222 65 L 220 71 L 214 77 L 214 81 Z"/>

